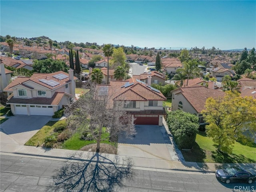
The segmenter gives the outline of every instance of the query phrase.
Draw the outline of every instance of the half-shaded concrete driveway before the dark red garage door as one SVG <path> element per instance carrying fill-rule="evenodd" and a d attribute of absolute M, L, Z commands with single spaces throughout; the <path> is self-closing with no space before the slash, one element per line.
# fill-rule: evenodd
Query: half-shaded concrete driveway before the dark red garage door
<path fill-rule="evenodd" d="M 119 155 L 172 160 L 170 150 L 173 146 L 164 126 L 138 125 L 135 128 L 137 134 L 134 137 L 119 136 Z"/>

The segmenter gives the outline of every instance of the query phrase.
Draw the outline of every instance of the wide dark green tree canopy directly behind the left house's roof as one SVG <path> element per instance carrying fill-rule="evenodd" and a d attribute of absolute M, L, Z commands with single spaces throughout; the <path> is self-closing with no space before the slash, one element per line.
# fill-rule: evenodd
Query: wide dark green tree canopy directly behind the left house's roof
<path fill-rule="evenodd" d="M 57 71 L 68 72 L 69 67 L 65 62 L 60 60 L 34 60 L 33 61 L 33 71 L 37 73 L 54 73 Z"/>

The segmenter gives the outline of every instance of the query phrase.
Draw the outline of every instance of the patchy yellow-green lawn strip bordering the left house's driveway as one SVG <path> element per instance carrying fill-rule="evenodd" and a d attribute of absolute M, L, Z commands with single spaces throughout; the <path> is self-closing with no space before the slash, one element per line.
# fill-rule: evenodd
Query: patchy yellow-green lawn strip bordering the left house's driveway
<path fill-rule="evenodd" d="M 25 145 L 31 145 L 31 146 L 37 146 L 38 141 L 40 142 L 40 145 L 44 143 L 44 138 L 46 136 L 50 136 L 50 134 L 53 132 L 54 127 L 58 124 L 60 124 L 62 121 L 49 121 L 46 123 L 45 126 L 43 126 L 30 140 L 28 140 Z M 55 126 L 54 126 L 55 125 Z"/>

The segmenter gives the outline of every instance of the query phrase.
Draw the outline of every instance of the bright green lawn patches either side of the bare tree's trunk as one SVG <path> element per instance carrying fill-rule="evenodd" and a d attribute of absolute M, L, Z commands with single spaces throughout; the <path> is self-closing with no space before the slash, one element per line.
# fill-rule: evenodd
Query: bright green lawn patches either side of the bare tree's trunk
<path fill-rule="evenodd" d="M 116 143 L 108 141 L 108 136 L 109 136 L 108 132 L 103 133 L 102 139 L 106 139 L 106 140 L 103 140 L 100 143 L 106 143 L 106 144 L 116 146 Z M 70 149 L 70 150 L 79 150 L 80 148 L 82 148 L 85 145 L 97 143 L 96 140 L 90 140 L 90 141 L 83 140 L 83 139 L 80 139 L 80 137 L 81 137 L 80 133 L 78 133 L 78 132 L 75 133 L 71 138 L 69 138 L 62 144 L 62 148 Z"/>

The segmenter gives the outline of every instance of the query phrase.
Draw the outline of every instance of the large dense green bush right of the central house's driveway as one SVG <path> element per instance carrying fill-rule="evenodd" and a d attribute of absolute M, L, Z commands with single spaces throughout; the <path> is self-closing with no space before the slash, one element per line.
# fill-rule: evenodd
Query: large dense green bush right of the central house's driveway
<path fill-rule="evenodd" d="M 198 117 L 176 110 L 167 115 L 168 128 L 179 149 L 191 149 L 198 133 Z"/>

